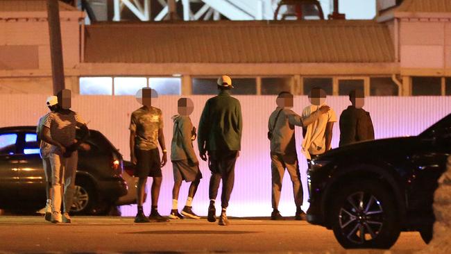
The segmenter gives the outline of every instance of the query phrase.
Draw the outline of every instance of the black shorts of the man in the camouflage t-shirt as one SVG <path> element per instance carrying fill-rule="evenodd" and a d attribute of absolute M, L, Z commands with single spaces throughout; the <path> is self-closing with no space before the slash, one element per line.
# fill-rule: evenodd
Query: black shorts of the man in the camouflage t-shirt
<path fill-rule="evenodd" d="M 160 151 L 135 149 L 137 164 L 135 176 L 139 178 L 162 177 Z"/>

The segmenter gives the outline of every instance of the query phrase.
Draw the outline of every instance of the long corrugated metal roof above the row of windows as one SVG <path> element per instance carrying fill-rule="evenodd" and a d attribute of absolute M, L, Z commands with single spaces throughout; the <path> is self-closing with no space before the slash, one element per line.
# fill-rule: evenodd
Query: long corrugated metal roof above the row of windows
<path fill-rule="evenodd" d="M 85 62 L 393 62 L 374 21 L 179 22 L 87 26 Z"/>

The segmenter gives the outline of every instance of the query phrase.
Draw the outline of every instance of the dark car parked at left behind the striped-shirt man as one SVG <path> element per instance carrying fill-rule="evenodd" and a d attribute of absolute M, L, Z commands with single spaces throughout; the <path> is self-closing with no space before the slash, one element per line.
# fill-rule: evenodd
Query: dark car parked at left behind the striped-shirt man
<path fill-rule="evenodd" d="M 24 212 L 45 205 L 45 176 L 35 126 L 0 128 L 0 208 Z M 127 194 L 122 155 L 97 130 L 90 151 L 78 151 L 76 194 L 71 212 L 99 214 Z"/>

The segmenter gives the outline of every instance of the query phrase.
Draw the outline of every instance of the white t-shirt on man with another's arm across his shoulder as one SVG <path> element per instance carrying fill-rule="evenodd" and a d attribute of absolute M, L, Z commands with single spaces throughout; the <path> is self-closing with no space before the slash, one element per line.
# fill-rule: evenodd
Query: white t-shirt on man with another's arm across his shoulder
<path fill-rule="evenodd" d="M 303 119 L 311 115 L 312 112 L 318 110 L 318 108 L 321 108 L 321 105 L 309 105 L 307 108 L 304 108 L 302 115 Z M 311 155 L 325 153 L 325 128 L 327 123 L 336 121 L 337 115 L 335 115 L 334 110 L 330 108 L 327 114 L 321 115 L 318 120 L 314 121 L 312 124 L 309 124 L 309 126 L 307 126 L 307 133 L 305 134 L 303 140 L 303 153 L 305 154 L 307 151 Z M 310 156 L 306 155 L 306 157 L 309 159 Z"/>

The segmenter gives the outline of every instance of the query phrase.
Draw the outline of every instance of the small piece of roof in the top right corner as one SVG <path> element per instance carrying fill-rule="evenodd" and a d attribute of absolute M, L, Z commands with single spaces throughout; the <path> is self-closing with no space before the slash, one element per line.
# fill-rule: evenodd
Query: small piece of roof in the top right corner
<path fill-rule="evenodd" d="M 451 12 L 451 0 L 405 0 L 397 12 Z"/>

